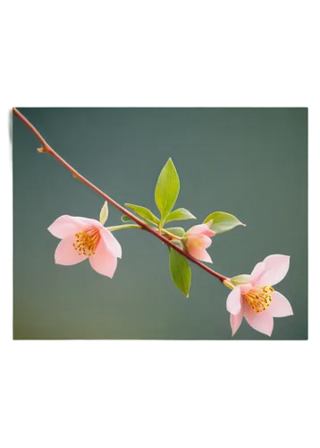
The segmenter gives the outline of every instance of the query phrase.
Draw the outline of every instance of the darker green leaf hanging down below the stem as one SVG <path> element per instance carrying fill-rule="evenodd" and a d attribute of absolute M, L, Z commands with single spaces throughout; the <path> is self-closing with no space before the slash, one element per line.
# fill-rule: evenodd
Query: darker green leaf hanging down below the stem
<path fill-rule="evenodd" d="M 191 268 L 186 257 L 179 254 L 179 252 L 170 248 L 170 272 L 175 286 L 181 292 L 189 297 L 189 289 L 191 285 Z"/>

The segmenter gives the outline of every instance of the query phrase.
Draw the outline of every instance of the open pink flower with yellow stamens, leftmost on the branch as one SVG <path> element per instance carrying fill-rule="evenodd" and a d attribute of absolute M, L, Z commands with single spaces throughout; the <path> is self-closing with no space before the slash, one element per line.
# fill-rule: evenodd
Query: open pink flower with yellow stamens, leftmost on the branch
<path fill-rule="evenodd" d="M 55 263 L 69 266 L 88 258 L 95 271 L 113 278 L 122 247 L 100 222 L 63 215 L 48 230 L 62 239 L 55 249 Z"/>

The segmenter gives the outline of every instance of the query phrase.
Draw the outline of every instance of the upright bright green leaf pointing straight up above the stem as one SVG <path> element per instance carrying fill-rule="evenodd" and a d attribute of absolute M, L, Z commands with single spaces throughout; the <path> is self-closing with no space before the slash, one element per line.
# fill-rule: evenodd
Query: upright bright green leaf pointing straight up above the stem
<path fill-rule="evenodd" d="M 179 190 L 179 176 L 173 165 L 173 160 L 170 158 L 164 165 L 156 183 L 155 201 L 161 213 L 162 222 L 164 222 L 170 211 L 173 210 Z"/>

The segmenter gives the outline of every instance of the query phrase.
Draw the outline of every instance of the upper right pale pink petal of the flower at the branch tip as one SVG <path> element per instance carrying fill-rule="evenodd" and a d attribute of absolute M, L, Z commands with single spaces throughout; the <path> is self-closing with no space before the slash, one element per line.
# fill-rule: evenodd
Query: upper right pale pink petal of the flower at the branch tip
<path fill-rule="evenodd" d="M 290 256 L 269 255 L 263 263 L 265 269 L 255 276 L 254 284 L 273 286 L 284 279 L 289 271 Z"/>

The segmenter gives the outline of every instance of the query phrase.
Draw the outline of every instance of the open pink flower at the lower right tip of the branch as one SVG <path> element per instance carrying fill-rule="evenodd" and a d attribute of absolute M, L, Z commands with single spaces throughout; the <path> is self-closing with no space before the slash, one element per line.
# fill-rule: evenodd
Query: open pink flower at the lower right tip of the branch
<path fill-rule="evenodd" d="M 232 290 L 227 298 L 232 336 L 239 329 L 243 315 L 257 332 L 271 336 L 274 317 L 293 314 L 286 297 L 272 288 L 286 276 L 289 264 L 287 255 L 269 255 L 262 263 L 257 263 L 248 276 L 249 283 L 237 285 Z"/>

